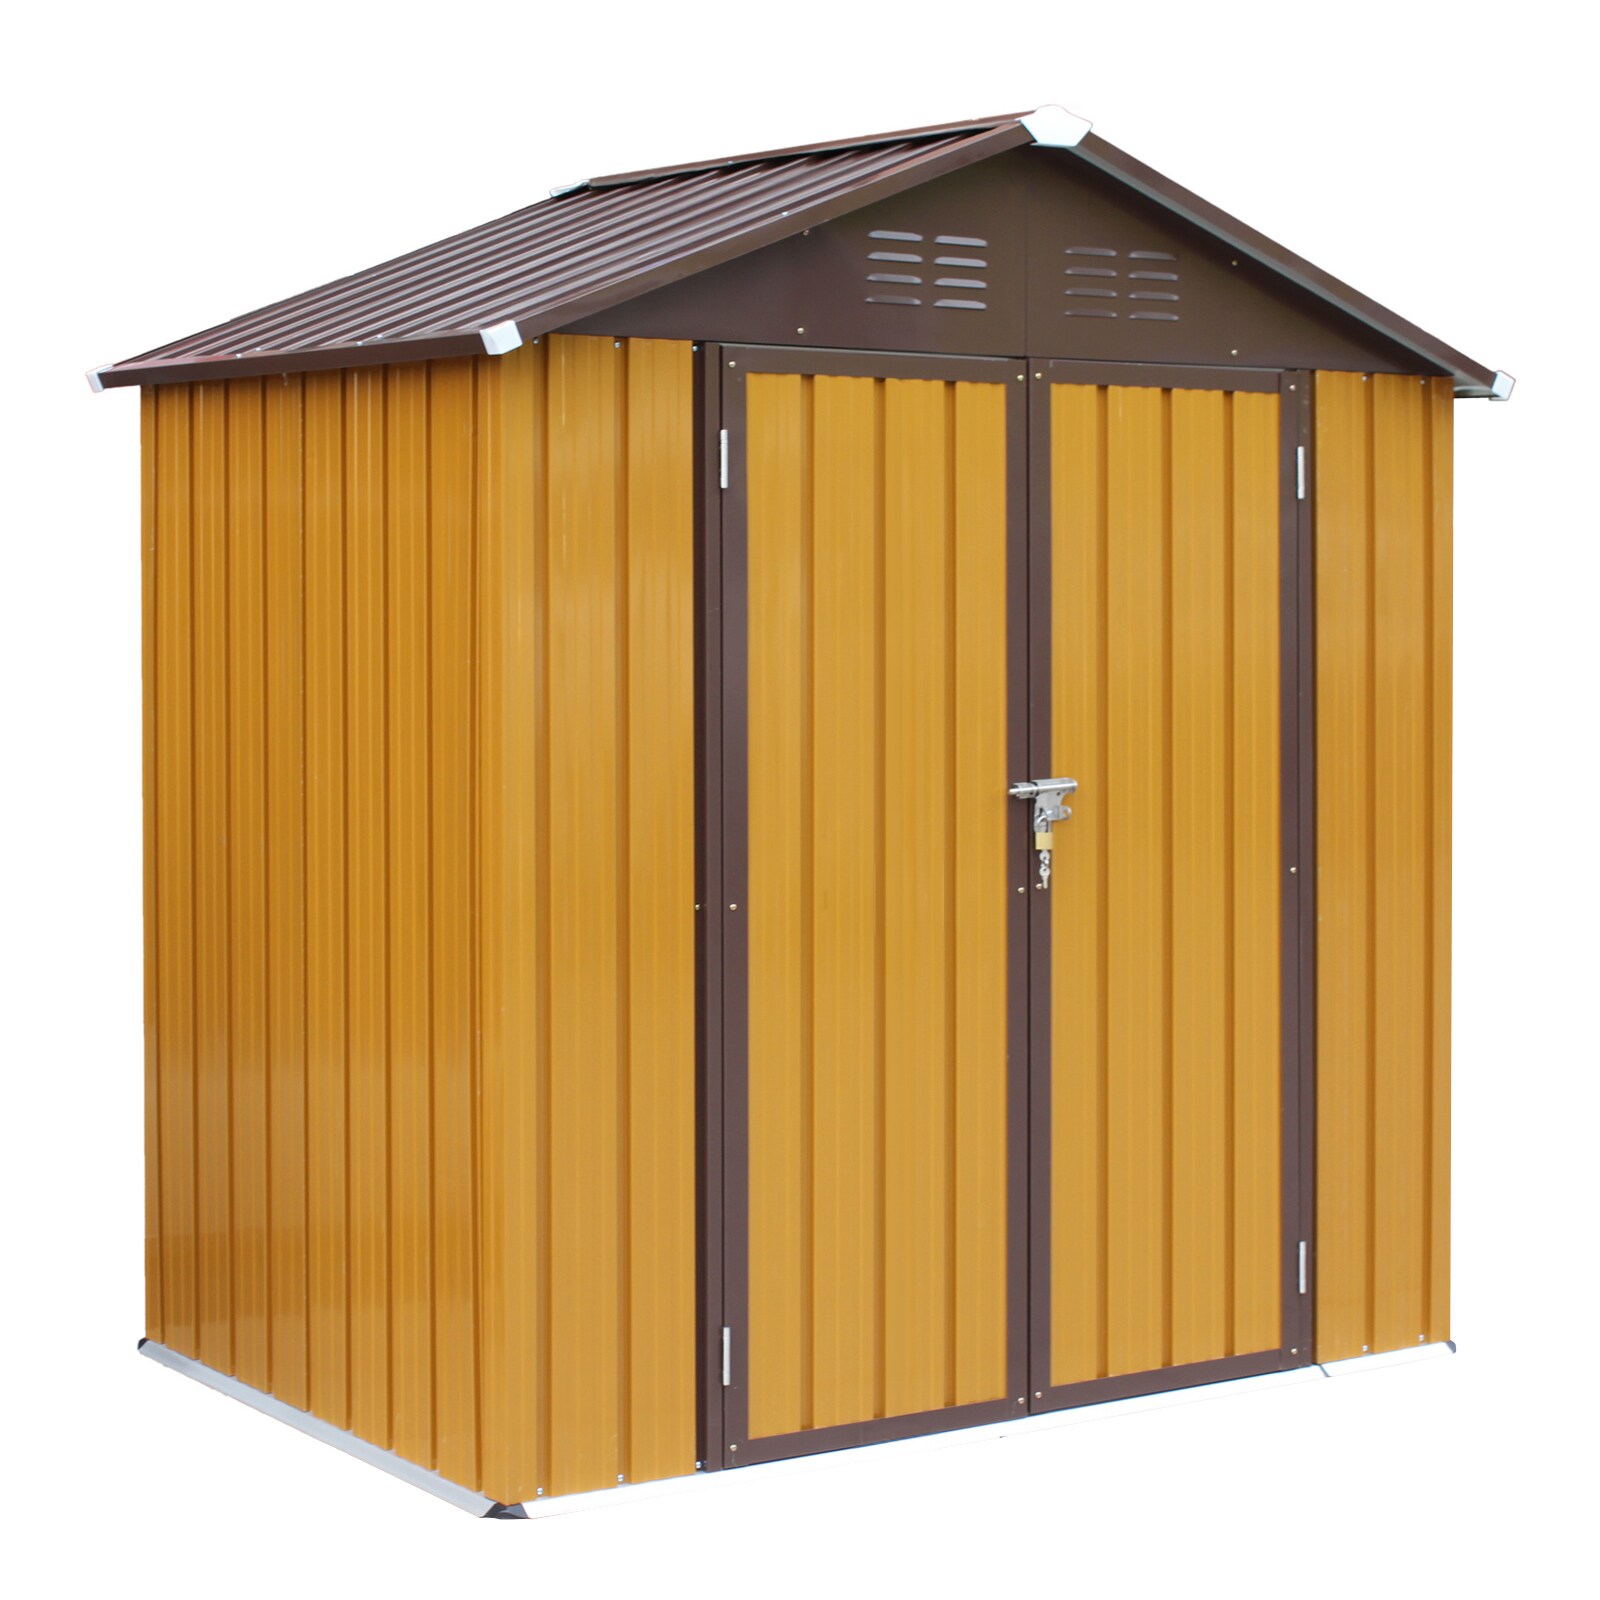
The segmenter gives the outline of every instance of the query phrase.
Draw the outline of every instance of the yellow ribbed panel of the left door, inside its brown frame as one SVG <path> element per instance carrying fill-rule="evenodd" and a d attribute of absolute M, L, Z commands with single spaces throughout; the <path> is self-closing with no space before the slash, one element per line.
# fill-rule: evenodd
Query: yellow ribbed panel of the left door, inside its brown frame
<path fill-rule="evenodd" d="M 1005 1394 L 1002 384 L 752 374 L 752 1437 Z"/>

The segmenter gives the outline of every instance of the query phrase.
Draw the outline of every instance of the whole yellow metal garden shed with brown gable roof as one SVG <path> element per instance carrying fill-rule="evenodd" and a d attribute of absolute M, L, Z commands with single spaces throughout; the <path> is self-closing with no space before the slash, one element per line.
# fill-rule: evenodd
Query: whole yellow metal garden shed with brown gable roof
<path fill-rule="evenodd" d="M 91 382 L 146 1354 L 515 1515 L 1448 1339 L 1504 374 L 1051 107 L 592 179 Z"/>

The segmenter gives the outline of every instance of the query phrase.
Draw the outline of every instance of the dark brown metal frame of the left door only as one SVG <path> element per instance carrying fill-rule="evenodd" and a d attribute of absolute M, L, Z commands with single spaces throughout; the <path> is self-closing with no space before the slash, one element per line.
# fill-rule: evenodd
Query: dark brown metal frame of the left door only
<path fill-rule="evenodd" d="M 976 378 L 1006 386 L 1006 597 L 1008 755 L 1011 774 L 1027 754 L 1027 387 L 1024 363 L 1003 357 L 885 355 L 781 346 L 710 346 L 702 350 L 699 437 L 702 475 L 701 600 L 701 1003 L 715 1006 L 701 1026 L 702 1293 L 701 1461 L 707 1469 L 787 1459 L 851 1445 L 910 1438 L 1021 1416 L 1027 1379 L 1027 896 L 1010 899 L 1006 1061 L 1006 1384 L 1003 1398 L 902 1416 L 819 1427 L 770 1438 L 749 1435 L 749 947 L 747 899 L 749 766 L 746 730 L 747 555 L 746 384 L 749 373 L 810 373 L 851 378 Z M 726 430 L 728 486 L 720 488 L 720 442 Z M 1008 866 L 1027 883 L 1029 838 L 1022 806 L 1010 805 Z M 720 840 L 720 850 L 717 848 Z M 715 1155 L 710 1154 L 715 1147 Z M 723 1384 L 722 1331 L 730 1330 L 730 1381 Z"/>

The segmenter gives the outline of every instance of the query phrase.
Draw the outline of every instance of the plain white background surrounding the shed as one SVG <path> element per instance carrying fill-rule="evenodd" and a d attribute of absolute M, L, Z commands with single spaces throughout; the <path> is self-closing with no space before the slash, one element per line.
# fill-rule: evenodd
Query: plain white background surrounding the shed
<path fill-rule="evenodd" d="M 27 6 L 6 24 L 16 1594 L 1587 1590 L 1595 146 L 1576 6 Z M 1520 379 L 1458 406 L 1451 1360 L 475 1523 L 134 1357 L 138 418 L 82 373 L 592 173 L 1059 101 Z"/>

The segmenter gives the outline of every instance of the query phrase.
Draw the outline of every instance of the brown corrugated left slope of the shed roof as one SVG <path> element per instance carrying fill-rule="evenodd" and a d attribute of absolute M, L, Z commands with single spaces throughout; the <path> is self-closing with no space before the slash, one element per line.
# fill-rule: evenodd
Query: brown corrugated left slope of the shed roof
<path fill-rule="evenodd" d="M 533 338 L 1026 142 L 1006 118 L 586 186 L 118 362 L 101 381 L 482 354 L 483 328 L 515 322 Z"/>

